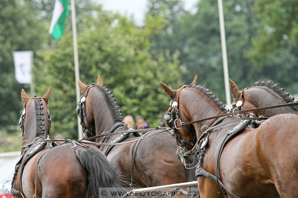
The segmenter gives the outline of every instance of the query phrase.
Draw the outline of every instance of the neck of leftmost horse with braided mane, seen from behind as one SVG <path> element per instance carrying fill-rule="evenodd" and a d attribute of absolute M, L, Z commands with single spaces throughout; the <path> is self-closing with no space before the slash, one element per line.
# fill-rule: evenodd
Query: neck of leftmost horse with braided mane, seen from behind
<path fill-rule="evenodd" d="M 41 109 L 42 107 L 43 109 Z M 46 103 L 43 100 L 38 101 L 38 98 L 35 97 L 27 103 L 25 111 L 23 140 L 33 142 L 37 137 L 40 139 L 46 139 L 49 132 L 49 120 Z"/>

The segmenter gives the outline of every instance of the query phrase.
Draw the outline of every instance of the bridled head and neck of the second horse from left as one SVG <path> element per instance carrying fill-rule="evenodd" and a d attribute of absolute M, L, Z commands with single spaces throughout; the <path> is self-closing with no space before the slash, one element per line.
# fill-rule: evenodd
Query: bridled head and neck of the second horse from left
<path fill-rule="evenodd" d="M 80 80 L 78 83 L 82 96 L 77 106 L 77 114 L 81 118 L 84 138 L 95 136 L 97 131 L 108 131 L 114 122 L 122 122 L 123 114 L 120 113 L 118 102 L 112 92 L 103 85 L 100 75 L 96 84 L 86 85 Z"/>

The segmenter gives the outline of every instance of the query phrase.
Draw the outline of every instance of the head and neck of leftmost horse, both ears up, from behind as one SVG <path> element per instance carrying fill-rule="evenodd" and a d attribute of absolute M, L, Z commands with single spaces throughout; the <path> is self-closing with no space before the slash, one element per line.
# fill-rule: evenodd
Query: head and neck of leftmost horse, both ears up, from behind
<path fill-rule="evenodd" d="M 22 89 L 21 98 L 24 109 L 19 121 L 19 128 L 23 131 L 23 141 L 32 142 L 46 139 L 50 135 L 51 118 L 47 109 L 49 94 L 52 86 L 43 97 L 28 97 Z"/>

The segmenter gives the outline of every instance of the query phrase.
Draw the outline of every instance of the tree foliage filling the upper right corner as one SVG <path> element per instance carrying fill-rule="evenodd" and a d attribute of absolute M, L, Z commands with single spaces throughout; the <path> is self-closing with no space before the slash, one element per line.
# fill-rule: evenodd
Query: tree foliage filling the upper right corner
<path fill-rule="evenodd" d="M 255 10 L 264 26 L 254 40 L 254 49 L 249 57 L 255 65 L 276 53 L 288 43 L 298 46 L 298 1 L 296 0 L 256 0 Z"/>

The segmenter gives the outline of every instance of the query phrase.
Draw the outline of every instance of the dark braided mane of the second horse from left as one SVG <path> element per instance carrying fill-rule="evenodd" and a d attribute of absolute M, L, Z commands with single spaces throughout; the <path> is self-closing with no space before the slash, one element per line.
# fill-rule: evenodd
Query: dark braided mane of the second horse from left
<path fill-rule="evenodd" d="M 105 94 L 106 101 L 109 102 L 109 104 L 110 104 L 113 117 L 116 119 L 115 121 L 116 122 L 122 122 L 122 118 L 123 118 L 122 115 L 123 114 L 120 113 L 121 110 L 119 110 L 119 106 L 117 105 L 118 102 L 115 101 L 116 98 L 113 98 L 114 95 L 111 94 L 112 92 L 108 88 L 106 88 L 106 87 L 104 87 L 102 85 L 100 85 L 100 86 L 97 85 L 95 87 L 97 87 L 98 89 L 100 89 Z"/>

